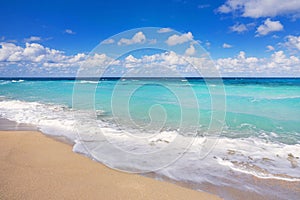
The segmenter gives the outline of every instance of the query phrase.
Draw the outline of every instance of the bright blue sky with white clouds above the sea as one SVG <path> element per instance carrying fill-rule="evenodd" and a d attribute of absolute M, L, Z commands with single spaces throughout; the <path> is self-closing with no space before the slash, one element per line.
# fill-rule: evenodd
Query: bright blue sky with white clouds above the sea
<path fill-rule="evenodd" d="M 197 42 L 222 76 L 300 77 L 299 0 L 2 0 L 0 8 L 0 77 L 76 76 L 102 41 L 115 49 L 155 43 L 142 29 L 123 34 L 122 41 L 111 38 L 142 27 L 178 31 L 175 40 L 189 48 L 182 55 L 157 53 L 160 64 L 197 57 Z M 177 32 L 169 33 L 163 43 L 174 47 L 168 39 Z M 130 58 L 131 64 L 145 61 L 127 57 L 117 67 L 126 68 Z"/>

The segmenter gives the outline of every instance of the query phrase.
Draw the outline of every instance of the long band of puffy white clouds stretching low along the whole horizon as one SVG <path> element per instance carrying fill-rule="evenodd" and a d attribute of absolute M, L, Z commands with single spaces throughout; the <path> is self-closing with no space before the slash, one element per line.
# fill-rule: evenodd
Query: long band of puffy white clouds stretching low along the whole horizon
<path fill-rule="evenodd" d="M 291 44 L 298 44 L 294 42 L 293 37 L 287 37 L 287 42 L 292 41 Z M 201 67 L 205 72 L 210 72 L 213 69 L 209 59 L 192 56 L 195 53 L 193 44 L 190 44 L 190 47 L 186 49 L 185 55 L 167 52 L 145 55 L 139 58 L 129 55 L 121 60 L 114 60 L 105 54 L 87 56 L 84 53 L 78 53 L 76 55 L 66 55 L 63 51 L 51 49 L 37 43 L 26 43 L 25 46 L 18 46 L 13 43 L 3 42 L 0 45 L 1 73 L 6 68 L 5 66 L 10 65 L 19 66 L 18 70 L 25 68 L 31 71 L 46 70 L 52 74 L 66 74 L 72 69 L 73 73 L 76 73 L 76 69 L 79 66 L 83 66 L 83 69 L 90 69 L 84 73 L 86 76 L 94 76 L 95 73 L 101 74 L 100 72 L 108 65 L 119 71 L 135 70 L 140 67 L 142 70 L 140 71 L 141 74 L 138 75 L 159 74 L 161 76 L 176 75 L 176 73 L 172 72 L 193 73 L 195 72 L 195 66 Z M 267 48 L 274 50 L 274 47 L 270 45 Z M 275 51 L 270 57 L 266 58 L 247 56 L 245 52 L 241 51 L 235 57 L 220 58 L 215 60 L 215 63 L 224 76 L 300 75 L 299 57 L 288 56 L 283 51 Z M 95 72 L 95 70 L 97 71 Z"/>

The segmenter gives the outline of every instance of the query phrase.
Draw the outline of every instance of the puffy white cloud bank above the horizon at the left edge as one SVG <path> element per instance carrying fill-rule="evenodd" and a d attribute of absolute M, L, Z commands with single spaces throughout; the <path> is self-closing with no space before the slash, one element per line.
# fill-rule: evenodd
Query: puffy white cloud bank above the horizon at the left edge
<path fill-rule="evenodd" d="M 84 53 L 66 55 L 63 51 L 37 43 L 26 43 L 25 47 L 13 43 L 0 43 L 0 73 L 9 69 L 6 74 L 10 75 L 75 76 L 81 66 L 84 69 L 81 75 L 95 76 L 95 73 L 101 74 L 100 71 L 109 64 L 117 65 L 119 61 L 97 53 L 91 56 Z M 18 68 L 10 68 L 11 66 Z"/>

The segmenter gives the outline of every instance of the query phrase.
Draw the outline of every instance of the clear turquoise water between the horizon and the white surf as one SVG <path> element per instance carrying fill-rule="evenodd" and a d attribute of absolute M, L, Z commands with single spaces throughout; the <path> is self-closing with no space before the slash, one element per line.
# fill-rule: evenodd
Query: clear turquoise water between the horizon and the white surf
<path fill-rule="evenodd" d="M 189 112 L 189 98 L 197 98 L 201 126 L 209 126 L 211 120 L 211 95 L 203 80 L 105 80 L 77 81 L 78 84 L 97 85 L 95 109 L 104 111 L 103 117 L 112 117 L 112 99 L 118 117 L 128 120 L 128 114 L 122 110 L 123 99 L 133 88 L 138 87 L 128 102 L 130 116 L 137 123 L 149 123 L 148 111 L 154 104 L 160 104 L 167 113 L 166 128 L 177 128 L 181 120 L 181 109 Z M 113 91 L 119 85 L 117 94 Z M 228 129 L 225 137 L 260 137 L 263 133 L 269 139 L 286 144 L 300 141 L 300 79 L 225 79 L 226 118 Z M 165 86 L 171 87 L 166 88 Z M 6 99 L 27 102 L 41 102 L 72 107 L 74 80 L 1 80 L 0 95 Z M 177 97 L 170 91 L 176 88 L 184 93 L 191 87 L 195 96 L 186 96 L 186 105 L 180 105 Z M 214 87 L 219 87 L 215 85 Z M 83 87 L 84 88 L 84 87 Z M 82 91 L 84 95 L 84 91 Z M 217 96 L 216 94 L 215 96 Z M 220 94 L 221 95 L 221 94 Z M 127 102 L 126 102 L 127 103 Z M 82 105 L 84 108 L 84 105 Z M 88 106 L 87 106 L 88 107 Z M 126 107 L 126 106 L 125 106 Z M 115 111 L 116 112 L 116 111 Z M 187 117 L 188 118 L 188 117 Z M 272 134 L 271 134 L 272 133 Z"/>

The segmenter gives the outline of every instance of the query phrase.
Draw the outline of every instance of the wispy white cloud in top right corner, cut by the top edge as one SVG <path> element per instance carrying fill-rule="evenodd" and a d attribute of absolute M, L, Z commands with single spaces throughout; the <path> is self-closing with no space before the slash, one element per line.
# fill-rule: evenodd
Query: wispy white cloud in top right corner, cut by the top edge
<path fill-rule="evenodd" d="M 218 8 L 220 13 L 237 12 L 243 17 L 259 18 L 300 14 L 299 0 L 227 0 Z"/>

